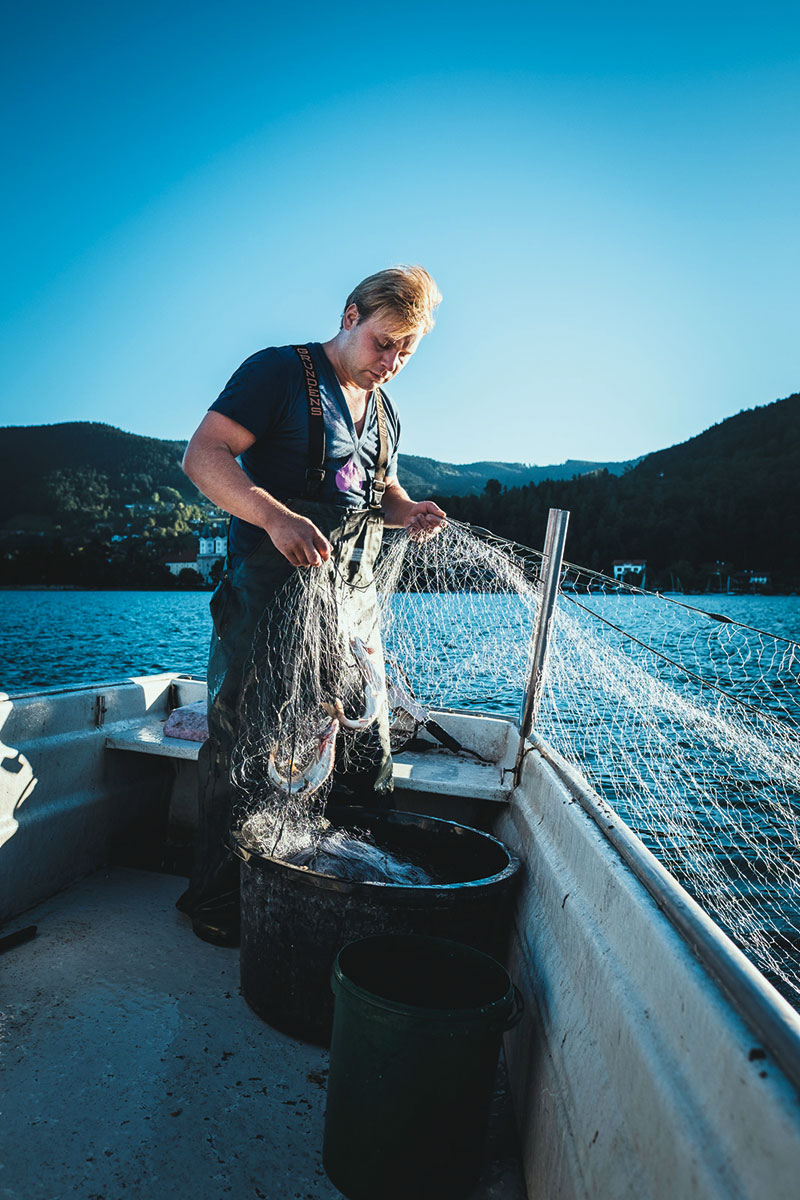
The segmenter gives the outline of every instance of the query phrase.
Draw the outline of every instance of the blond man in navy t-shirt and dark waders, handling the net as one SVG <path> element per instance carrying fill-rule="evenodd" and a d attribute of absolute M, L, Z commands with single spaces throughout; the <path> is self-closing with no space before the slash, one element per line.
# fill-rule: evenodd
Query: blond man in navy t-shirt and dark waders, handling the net
<path fill-rule="evenodd" d="M 440 300 L 421 266 L 371 275 L 348 296 L 333 338 L 247 359 L 186 449 L 186 474 L 233 517 L 225 575 L 211 599 L 209 739 L 198 761 L 196 863 L 179 900 L 206 941 L 237 942 L 239 872 L 228 850 L 236 800 L 230 758 L 259 622 L 259 636 L 277 629 L 281 598 L 297 569 L 325 571 L 335 564 L 347 572 L 354 602 L 374 604 L 369 582 L 383 526 L 425 536 L 444 522 L 441 509 L 413 500 L 397 479 L 399 421 L 381 390 L 433 328 Z M 365 745 L 367 766 L 337 786 L 380 803 L 392 787 L 385 714 Z"/>

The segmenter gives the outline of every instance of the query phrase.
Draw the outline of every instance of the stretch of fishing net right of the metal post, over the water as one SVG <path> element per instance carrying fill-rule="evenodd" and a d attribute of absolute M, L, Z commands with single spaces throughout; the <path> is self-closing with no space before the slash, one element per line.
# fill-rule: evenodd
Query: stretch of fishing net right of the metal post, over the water
<path fill-rule="evenodd" d="M 569 566 L 537 715 L 540 734 L 794 1003 L 799 650 Z"/>

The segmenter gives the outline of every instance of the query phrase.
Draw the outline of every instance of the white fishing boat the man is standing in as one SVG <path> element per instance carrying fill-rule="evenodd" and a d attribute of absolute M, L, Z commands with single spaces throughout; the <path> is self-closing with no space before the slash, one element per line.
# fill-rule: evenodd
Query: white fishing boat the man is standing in
<path fill-rule="evenodd" d="M 22 930 L 2 955 L 10 1198 L 338 1194 L 325 1051 L 251 1013 L 236 952 L 174 907 L 198 745 L 163 727 L 204 696 L 162 673 L 0 698 L 0 920 Z M 522 863 L 517 1158 L 474 1200 L 796 1196 L 795 1010 L 535 732 L 432 715 L 483 761 L 433 739 L 398 754 L 397 806 Z"/>

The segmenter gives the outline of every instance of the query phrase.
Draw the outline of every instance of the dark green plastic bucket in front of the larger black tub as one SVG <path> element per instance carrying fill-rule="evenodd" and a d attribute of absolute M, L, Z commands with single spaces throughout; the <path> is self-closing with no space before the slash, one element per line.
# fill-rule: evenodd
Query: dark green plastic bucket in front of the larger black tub
<path fill-rule="evenodd" d="M 416 935 L 345 946 L 332 974 L 323 1165 L 349 1200 L 450 1200 L 480 1172 L 518 992 L 488 954 Z"/>

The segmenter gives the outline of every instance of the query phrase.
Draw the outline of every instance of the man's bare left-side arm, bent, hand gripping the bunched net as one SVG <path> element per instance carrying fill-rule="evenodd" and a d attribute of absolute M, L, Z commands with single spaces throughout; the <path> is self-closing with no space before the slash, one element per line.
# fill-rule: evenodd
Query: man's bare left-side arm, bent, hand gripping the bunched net
<path fill-rule="evenodd" d="M 236 462 L 254 436 L 222 413 L 206 413 L 184 455 L 184 470 L 225 512 L 260 526 L 293 566 L 320 566 L 331 545 L 317 526 L 291 512 L 248 478 Z"/>

